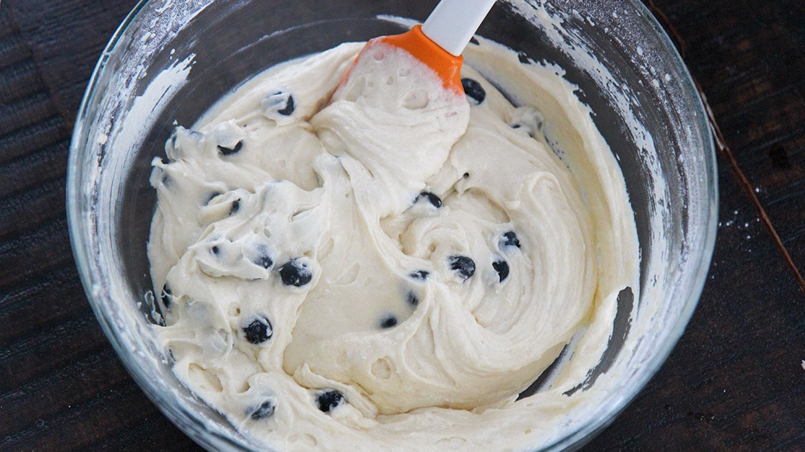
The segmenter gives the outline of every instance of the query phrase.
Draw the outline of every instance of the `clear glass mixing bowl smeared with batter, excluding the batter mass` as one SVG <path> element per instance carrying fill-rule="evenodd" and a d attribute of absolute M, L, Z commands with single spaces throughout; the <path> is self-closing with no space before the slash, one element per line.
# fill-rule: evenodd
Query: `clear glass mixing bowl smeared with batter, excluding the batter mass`
<path fill-rule="evenodd" d="M 716 235 L 712 139 L 683 61 L 642 3 L 589 3 L 498 2 L 478 31 L 564 68 L 578 85 L 621 165 L 638 229 L 639 297 L 619 299 L 604 358 L 580 389 L 595 397 L 556 438 L 534 445 L 541 449 L 592 438 L 656 372 L 696 306 Z M 421 21 L 435 4 L 144 1 L 101 56 L 70 149 L 73 251 L 89 302 L 126 368 L 202 446 L 250 448 L 180 384 L 151 340 L 151 158 L 164 155 L 174 121 L 192 124 L 262 69 L 344 41 L 402 32 L 394 17 Z"/>

